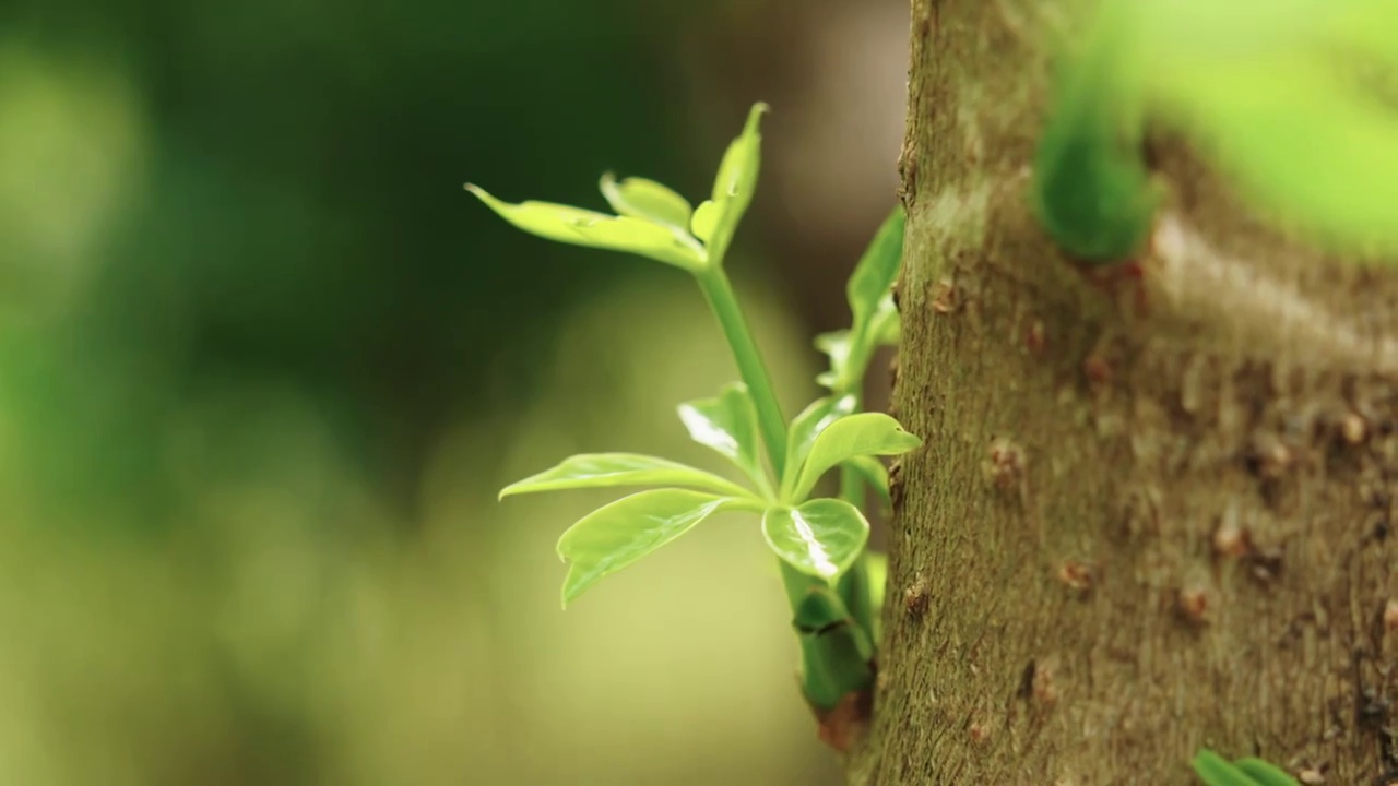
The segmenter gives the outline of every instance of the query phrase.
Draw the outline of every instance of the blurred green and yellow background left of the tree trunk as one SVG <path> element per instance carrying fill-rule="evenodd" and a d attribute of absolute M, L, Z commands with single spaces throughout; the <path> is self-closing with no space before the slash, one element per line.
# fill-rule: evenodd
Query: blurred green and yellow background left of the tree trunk
<path fill-rule="evenodd" d="M 906 1 L 0 6 L 0 783 L 836 783 L 717 519 L 566 613 L 580 450 L 709 463 L 684 276 L 461 190 L 693 196 L 788 410 L 893 204 Z M 875 401 L 878 399 L 875 397 Z"/>

